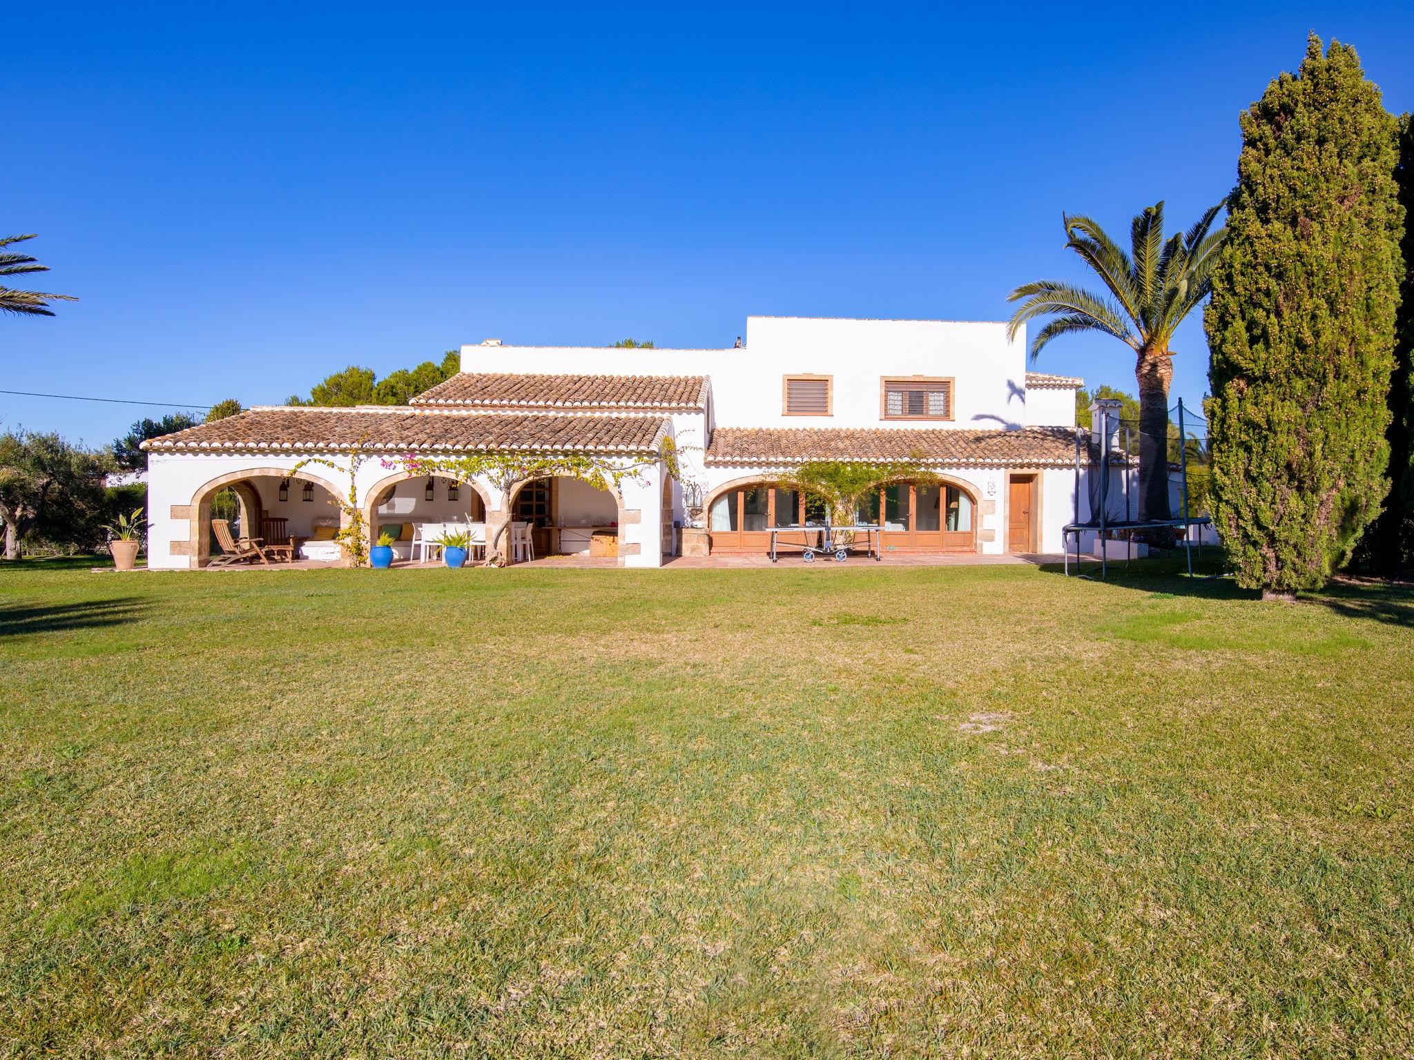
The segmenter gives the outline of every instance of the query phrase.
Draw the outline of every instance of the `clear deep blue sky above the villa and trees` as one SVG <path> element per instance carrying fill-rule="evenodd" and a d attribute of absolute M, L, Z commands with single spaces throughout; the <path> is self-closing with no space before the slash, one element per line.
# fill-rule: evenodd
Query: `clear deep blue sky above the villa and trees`
<path fill-rule="evenodd" d="M 1079 276 L 1062 211 L 1219 201 L 1308 30 L 1414 107 L 1407 3 L 959 10 L 11 4 L 0 229 L 82 301 L 0 319 L 0 386 L 279 403 L 486 336 L 1003 319 Z M 1175 348 L 1196 401 L 1196 321 Z M 1100 338 L 1039 367 L 1134 386 Z M 0 394 L 89 444 L 160 411 Z"/>

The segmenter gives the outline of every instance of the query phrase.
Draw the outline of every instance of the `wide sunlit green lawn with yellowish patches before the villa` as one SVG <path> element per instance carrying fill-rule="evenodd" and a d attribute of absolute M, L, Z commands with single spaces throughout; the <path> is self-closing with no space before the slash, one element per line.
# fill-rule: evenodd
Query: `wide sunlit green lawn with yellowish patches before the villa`
<path fill-rule="evenodd" d="M 62 567 L 6 1054 L 1414 1054 L 1408 589 Z"/>

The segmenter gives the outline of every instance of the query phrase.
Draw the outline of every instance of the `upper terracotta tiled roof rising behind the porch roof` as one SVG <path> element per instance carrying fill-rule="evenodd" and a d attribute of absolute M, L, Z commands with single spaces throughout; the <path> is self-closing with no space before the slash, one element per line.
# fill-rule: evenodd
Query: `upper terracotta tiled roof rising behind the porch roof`
<path fill-rule="evenodd" d="M 419 394 L 411 403 L 486 408 L 697 411 L 707 407 L 707 377 L 462 372 Z"/>

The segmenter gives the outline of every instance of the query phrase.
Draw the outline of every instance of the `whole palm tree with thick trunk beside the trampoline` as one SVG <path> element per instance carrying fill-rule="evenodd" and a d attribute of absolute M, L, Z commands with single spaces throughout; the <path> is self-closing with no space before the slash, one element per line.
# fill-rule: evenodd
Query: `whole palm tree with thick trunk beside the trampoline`
<path fill-rule="evenodd" d="M 1021 305 L 1007 334 L 1035 317 L 1051 321 L 1031 341 L 1035 360 L 1051 339 L 1072 331 L 1099 331 L 1127 343 L 1137 360 L 1140 389 L 1140 519 L 1168 519 L 1168 384 L 1174 352 L 1168 343 L 1182 319 L 1212 290 L 1216 250 L 1226 232 L 1210 230 L 1222 205 L 1213 206 L 1188 232 L 1164 240 L 1164 204 L 1150 206 L 1130 223 L 1126 254 L 1090 218 L 1063 215 L 1066 247 L 1075 250 L 1104 281 L 1111 297 L 1056 280 L 1038 280 L 1012 291 Z"/>

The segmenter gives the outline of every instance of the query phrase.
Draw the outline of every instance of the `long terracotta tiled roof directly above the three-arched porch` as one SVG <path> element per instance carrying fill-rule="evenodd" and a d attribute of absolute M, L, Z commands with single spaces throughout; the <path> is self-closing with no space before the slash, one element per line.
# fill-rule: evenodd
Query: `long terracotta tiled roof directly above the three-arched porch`
<path fill-rule="evenodd" d="M 410 406 L 257 407 L 143 442 L 151 452 L 564 449 L 653 452 L 660 416 L 468 413 Z"/>

